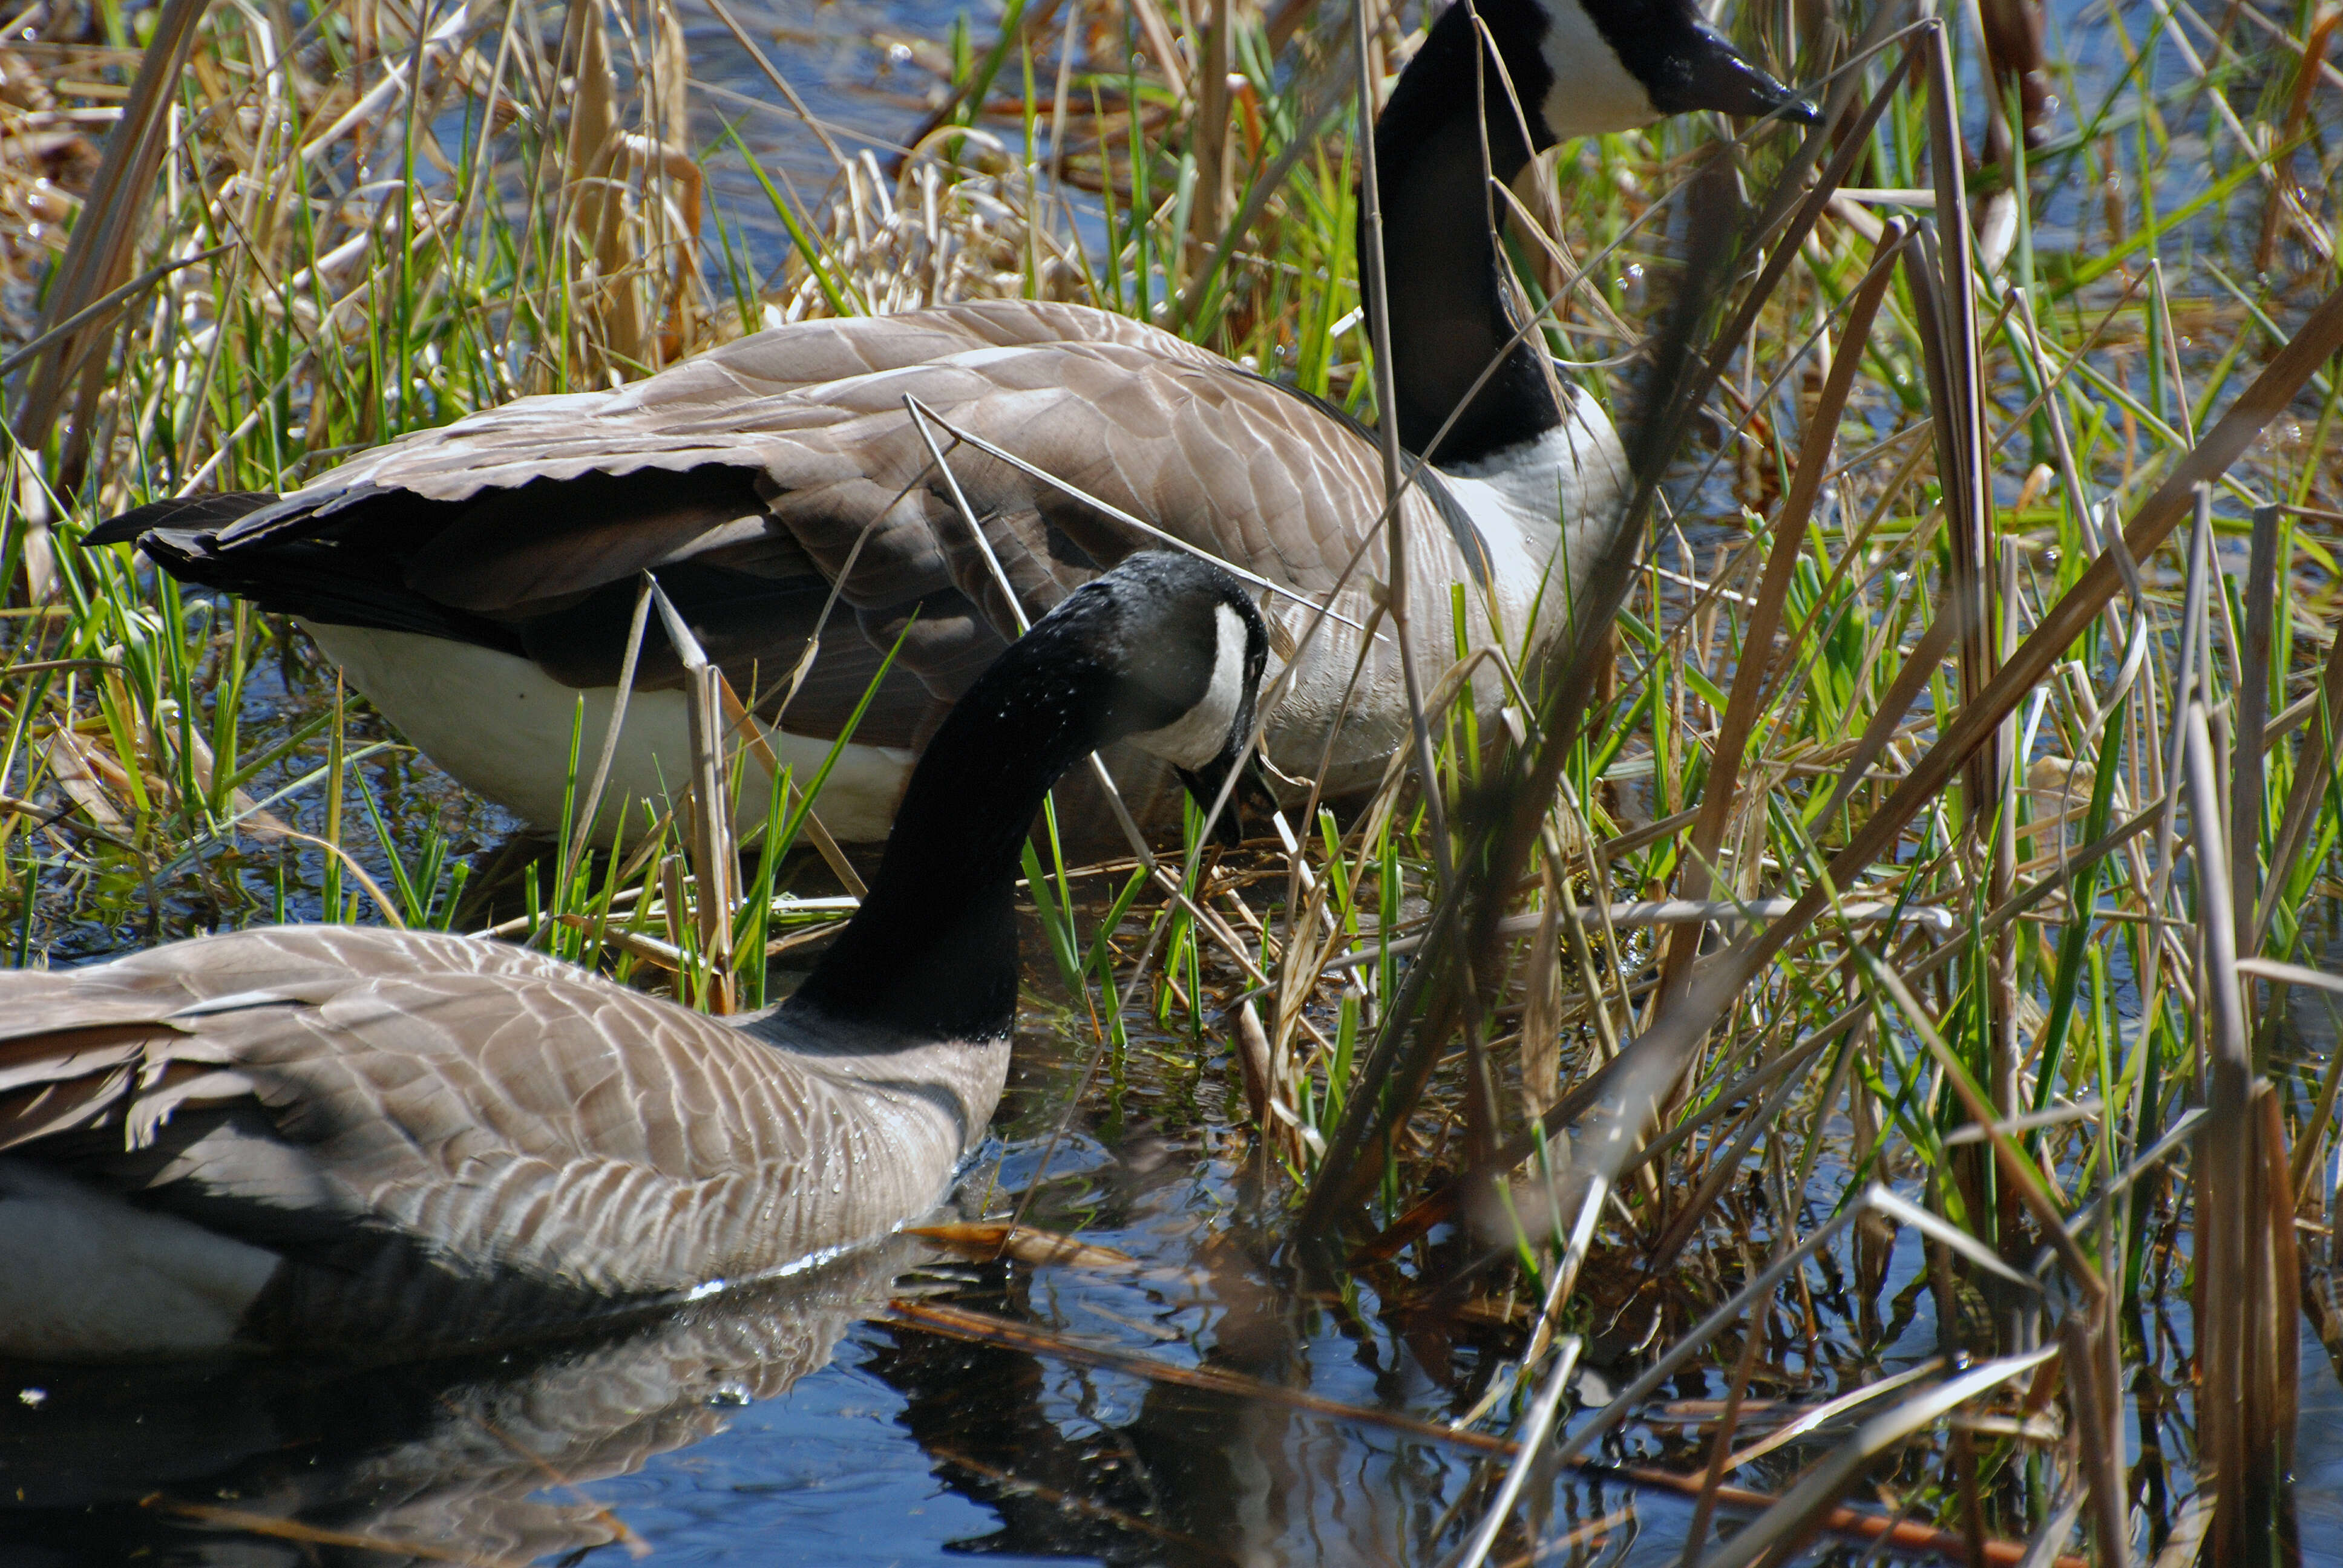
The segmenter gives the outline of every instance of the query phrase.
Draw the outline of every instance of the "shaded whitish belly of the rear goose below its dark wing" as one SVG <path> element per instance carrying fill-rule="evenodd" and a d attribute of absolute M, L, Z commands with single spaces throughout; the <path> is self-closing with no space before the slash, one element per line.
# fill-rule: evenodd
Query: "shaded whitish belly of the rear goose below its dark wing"
<path fill-rule="evenodd" d="M 583 698 L 579 795 L 593 780 L 616 687 L 579 691 L 527 659 L 448 638 L 312 621 L 302 621 L 302 628 L 342 666 L 349 684 L 426 757 L 466 788 L 539 827 L 553 827 L 562 818 L 569 722 Z M 764 734 L 797 780 L 811 780 L 829 755 L 829 741 L 792 736 L 785 729 Z M 911 759 L 914 752 L 893 745 L 846 745 L 813 804 L 815 816 L 839 839 L 862 844 L 883 839 L 888 823 L 895 820 L 902 785 L 911 776 Z M 626 703 L 626 729 L 602 790 L 604 806 L 597 813 L 602 830 L 609 830 L 616 804 L 623 802 L 628 832 L 642 832 L 640 802 L 665 806 L 670 790 L 682 795 L 689 780 L 691 722 L 682 691 L 635 691 Z M 764 823 L 764 813 L 766 785 L 761 769 L 752 764 L 736 816 L 747 830 Z"/>

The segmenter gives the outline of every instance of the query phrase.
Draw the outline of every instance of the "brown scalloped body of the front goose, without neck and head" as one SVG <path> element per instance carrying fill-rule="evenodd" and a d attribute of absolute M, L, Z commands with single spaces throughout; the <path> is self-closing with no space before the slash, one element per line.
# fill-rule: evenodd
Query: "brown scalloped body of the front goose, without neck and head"
<path fill-rule="evenodd" d="M 0 1320 L 148 1289 L 192 1341 L 494 1338 L 804 1263 L 933 1207 L 1007 1066 L 1007 1041 L 804 1020 L 778 1048 L 436 933 L 201 938 L 9 1001 L 0 1195 L 122 1212 L 59 1219 L 94 1226 L 82 1256 L 7 1259 Z M 94 1263 L 105 1226 L 145 1226 L 129 1263 Z"/>

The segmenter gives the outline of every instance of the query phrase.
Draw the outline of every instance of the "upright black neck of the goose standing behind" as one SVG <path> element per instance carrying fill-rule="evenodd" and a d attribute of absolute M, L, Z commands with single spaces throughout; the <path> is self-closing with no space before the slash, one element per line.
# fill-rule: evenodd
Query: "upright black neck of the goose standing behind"
<path fill-rule="evenodd" d="M 1474 9 L 1504 54 L 1502 73 L 1474 28 Z M 1563 422 L 1542 363 L 1542 335 L 1530 333 L 1507 349 L 1521 319 L 1490 230 L 1490 190 L 1481 178 L 1483 129 L 1488 171 L 1504 183 L 1521 173 L 1537 148 L 1553 145 L 1542 115 L 1551 84 L 1539 54 L 1544 28 L 1546 19 L 1535 0 L 1457 0 L 1432 23 L 1425 47 L 1408 61 L 1375 122 L 1399 443 L 1443 466 L 1478 462 Z M 1514 82 L 1511 96 L 1507 77 Z M 1485 105 L 1485 113 L 1476 113 L 1476 105 Z M 1537 136 L 1535 148 L 1523 138 L 1523 120 Z M 1500 218 L 1502 211 L 1500 206 Z M 1359 244 L 1364 255 L 1364 230 Z M 1457 415 L 1439 450 L 1427 450 L 1450 410 L 1500 354 L 1502 363 Z"/>

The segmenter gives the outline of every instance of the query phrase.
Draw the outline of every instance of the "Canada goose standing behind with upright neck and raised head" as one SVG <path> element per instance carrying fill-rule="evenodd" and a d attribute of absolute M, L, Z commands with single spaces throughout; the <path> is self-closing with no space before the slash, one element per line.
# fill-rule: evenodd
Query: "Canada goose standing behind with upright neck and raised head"
<path fill-rule="evenodd" d="M 1535 148 L 1661 115 L 1813 120 L 1692 0 L 1478 0 L 1495 40 L 1485 63 L 1471 9 L 1441 14 L 1375 127 L 1399 438 L 1439 462 L 1403 502 L 1413 635 L 1432 670 L 1455 656 L 1450 584 L 1471 586 L 1474 645 L 1558 635 L 1626 480 L 1600 405 L 1553 380 L 1537 333 L 1514 342 L 1483 148 L 1488 173 L 1509 183 Z M 947 429 L 921 429 L 907 398 Z M 1310 642 L 1265 750 L 1310 776 L 1324 755 L 1328 795 L 1380 776 L 1408 734 L 1387 635 L 1345 703 L 1375 581 L 1389 579 L 1373 436 L 1218 354 L 1078 305 L 783 326 L 630 387 L 518 398 L 410 434 L 281 499 L 162 502 L 89 539 L 138 539 L 185 581 L 298 616 L 415 745 L 537 823 L 560 818 L 579 696 L 588 743 L 609 722 L 644 567 L 776 727 L 776 755 L 799 778 L 900 645 L 818 804 L 832 834 L 867 841 L 886 834 L 944 705 L 1015 635 L 991 558 L 1038 612 L 1150 544 L 961 445 L 947 462 L 982 548 L 930 457 L 928 441 L 951 448 L 954 431 L 1303 598 L 1326 595 L 1373 534 L 1333 602 L 1345 621 Z M 1551 572 L 1556 560 L 1577 572 Z M 1305 612 L 1272 602 L 1270 614 L 1291 633 Z M 684 776 L 677 684 L 654 633 L 609 799 L 656 799 Z M 1495 675 L 1476 701 L 1502 701 Z"/>

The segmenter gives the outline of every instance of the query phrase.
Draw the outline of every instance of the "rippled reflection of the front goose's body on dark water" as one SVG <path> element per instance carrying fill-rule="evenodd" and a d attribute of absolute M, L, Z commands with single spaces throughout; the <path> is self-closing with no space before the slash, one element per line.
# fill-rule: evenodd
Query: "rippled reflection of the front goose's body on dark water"
<path fill-rule="evenodd" d="M 5 1364 L 21 1392 L 0 1413 L 0 1563 L 532 1563 L 626 1545 L 593 1481 L 787 1395 L 933 1256 L 890 1238 L 593 1343 L 501 1355 Z"/>

